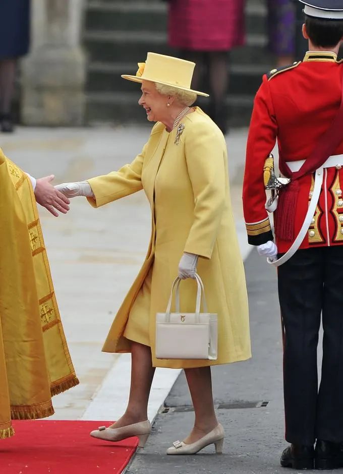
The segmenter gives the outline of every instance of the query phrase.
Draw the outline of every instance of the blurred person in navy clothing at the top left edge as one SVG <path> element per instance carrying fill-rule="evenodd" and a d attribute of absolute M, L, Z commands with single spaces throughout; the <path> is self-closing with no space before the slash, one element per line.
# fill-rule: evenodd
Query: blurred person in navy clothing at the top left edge
<path fill-rule="evenodd" d="M 0 129 L 13 132 L 12 100 L 18 58 L 29 50 L 30 0 L 2 0 L 0 42 Z"/>

